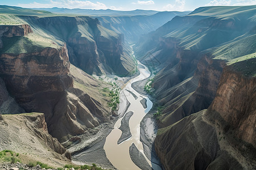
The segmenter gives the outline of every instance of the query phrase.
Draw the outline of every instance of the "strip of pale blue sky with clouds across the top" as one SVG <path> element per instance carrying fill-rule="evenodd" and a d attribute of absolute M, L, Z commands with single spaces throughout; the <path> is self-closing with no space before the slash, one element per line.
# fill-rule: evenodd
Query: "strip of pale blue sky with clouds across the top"
<path fill-rule="evenodd" d="M 20 6 L 27 8 L 65 7 L 112 10 L 159 10 L 185 11 L 200 6 L 216 5 L 256 5 L 256 0 L 1 0 L 0 5 Z"/>

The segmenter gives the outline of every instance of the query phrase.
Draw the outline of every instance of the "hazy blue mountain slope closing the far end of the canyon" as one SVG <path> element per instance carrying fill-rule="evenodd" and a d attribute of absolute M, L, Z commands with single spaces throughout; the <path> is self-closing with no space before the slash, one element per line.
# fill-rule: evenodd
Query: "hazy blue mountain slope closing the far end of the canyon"
<path fill-rule="evenodd" d="M 131 11 L 133 12 L 133 11 Z M 125 41 L 134 43 L 139 37 L 148 32 L 155 31 L 161 25 L 167 23 L 175 16 L 184 16 L 189 12 L 164 11 L 154 15 L 135 15 L 135 16 L 96 16 L 101 24 L 115 32 L 122 33 Z"/>

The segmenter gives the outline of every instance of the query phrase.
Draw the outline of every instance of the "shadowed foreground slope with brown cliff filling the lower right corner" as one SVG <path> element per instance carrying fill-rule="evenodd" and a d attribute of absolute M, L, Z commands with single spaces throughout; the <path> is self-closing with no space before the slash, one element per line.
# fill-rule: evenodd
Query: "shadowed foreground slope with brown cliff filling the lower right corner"
<path fill-rule="evenodd" d="M 164 168 L 255 168 L 255 59 L 225 67 L 207 110 L 158 131 L 155 148 Z M 254 76 L 241 73 L 238 66 Z"/>

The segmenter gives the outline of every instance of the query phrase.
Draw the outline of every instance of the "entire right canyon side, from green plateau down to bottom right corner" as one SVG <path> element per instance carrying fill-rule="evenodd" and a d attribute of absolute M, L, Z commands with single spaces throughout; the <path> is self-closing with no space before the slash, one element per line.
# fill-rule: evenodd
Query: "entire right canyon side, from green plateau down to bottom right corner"
<path fill-rule="evenodd" d="M 252 14 L 255 6 L 201 7 L 151 33 L 155 60 L 142 62 L 164 61 L 152 87 L 161 106 L 155 150 L 165 169 L 255 167 Z"/>

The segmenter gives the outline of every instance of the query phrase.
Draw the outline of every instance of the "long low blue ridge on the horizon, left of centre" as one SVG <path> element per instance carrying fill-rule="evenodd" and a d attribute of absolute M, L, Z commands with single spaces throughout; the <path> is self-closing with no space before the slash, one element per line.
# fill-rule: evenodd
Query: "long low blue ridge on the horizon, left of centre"
<path fill-rule="evenodd" d="M 154 10 L 133 10 L 133 11 L 117 11 L 117 10 L 91 10 L 91 9 L 81 9 L 81 8 L 75 8 L 75 9 L 69 9 L 69 8 L 31 8 L 32 10 L 43 10 L 52 12 L 55 14 L 79 14 L 79 15 L 122 15 L 122 16 L 134 16 L 134 15 L 154 15 L 159 11 Z"/>

